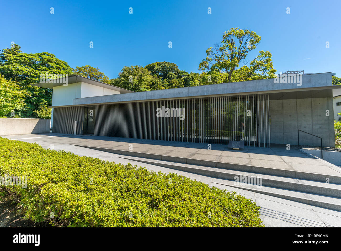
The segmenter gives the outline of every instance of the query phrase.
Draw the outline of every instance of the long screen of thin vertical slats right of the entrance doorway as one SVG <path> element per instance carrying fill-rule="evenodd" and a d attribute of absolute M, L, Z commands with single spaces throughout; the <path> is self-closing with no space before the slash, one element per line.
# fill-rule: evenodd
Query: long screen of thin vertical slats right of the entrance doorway
<path fill-rule="evenodd" d="M 269 147 L 268 118 L 268 94 L 103 104 L 95 135 Z"/>

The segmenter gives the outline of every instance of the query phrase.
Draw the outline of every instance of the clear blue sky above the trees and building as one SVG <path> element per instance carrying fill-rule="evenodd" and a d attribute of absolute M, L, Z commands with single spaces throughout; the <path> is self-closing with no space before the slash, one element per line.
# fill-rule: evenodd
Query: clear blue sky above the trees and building
<path fill-rule="evenodd" d="M 0 48 L 14 41 L 25 53 L 47 51 L 109 78 L 126 65 L 156 61 L 198 72 L 206 49 L 239 27 L 262 37 L 257 50 L 272 53 L 277 73 L 341 77 L 340 7 L 341 1 L 2 1 Z"/>

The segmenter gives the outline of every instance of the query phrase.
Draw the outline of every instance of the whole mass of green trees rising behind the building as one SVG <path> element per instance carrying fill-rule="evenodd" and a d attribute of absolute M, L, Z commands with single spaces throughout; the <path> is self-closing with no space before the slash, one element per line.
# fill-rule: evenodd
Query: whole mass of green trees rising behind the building
<path fill-rule="evenodd" d="M 99 68 L 84 65 L 72 69 L 54 54 L 27 54 L 14 44 L 0 53 L 0 75 L 3 75 L 1 91 L 2 95 L 9 95 L 8 99 L 3 100 L 2 107 L 6 103 L 8 108 L 2 116 L 10 116 L 9 109 L 15 109 L 19 117 L 48 118 L 50 109 L 47 106 L 52 103 L 52 90 L 31 86 L 39 82 L 40 75 L 46 72 L 77 74 L 136 92 L 276 77 L 269 51 L 260 50 L 256 56 L 250 57 L 250 51 L 255 50 L 260 41 L 261 36 L 254 31 L 232 28 L 224 32 L 220 43 L 206 50 L 206 58 L 199 63 L 199 73 L 189 73 L 180 70 L 176 63 L 163 61 L 145 67 L 124 66 L 118 77 L 113 79 L 109 79 Z M 332 82 L 333 85 L 341 84 L 341 78 L 333 76 Z M 13 93 L 17 93 L 18 100 L 13 99 Z M 24 101 L 21 102 L 21 99 Z M 11 102 L 18 102 L 18 106 L 10 105 Z"/>

